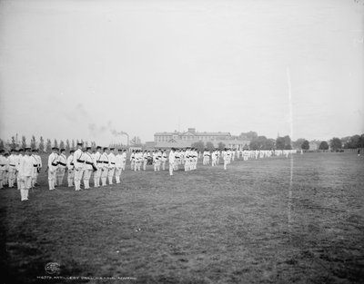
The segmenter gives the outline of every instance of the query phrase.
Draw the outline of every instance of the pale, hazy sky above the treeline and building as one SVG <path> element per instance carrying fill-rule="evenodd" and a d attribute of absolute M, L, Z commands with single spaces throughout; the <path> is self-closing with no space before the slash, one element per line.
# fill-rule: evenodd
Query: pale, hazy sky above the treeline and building
<path fill-rule="evenodd" d="M 0 138 L 364 133 L 363 0 L 2 0 Z"/>

